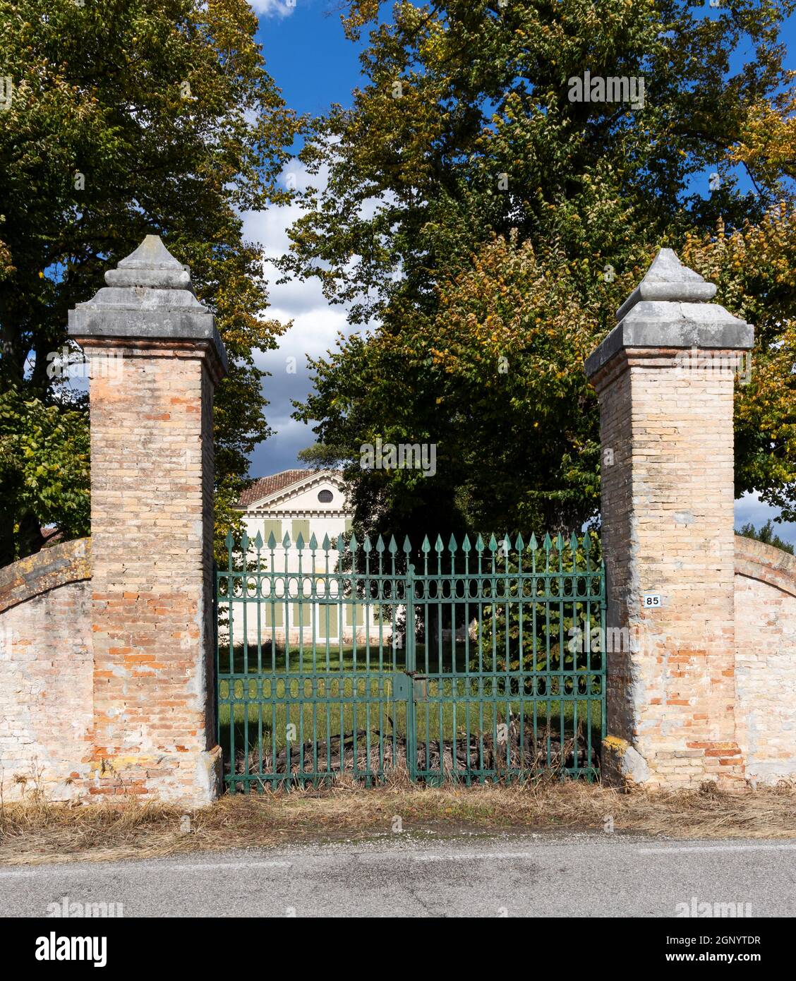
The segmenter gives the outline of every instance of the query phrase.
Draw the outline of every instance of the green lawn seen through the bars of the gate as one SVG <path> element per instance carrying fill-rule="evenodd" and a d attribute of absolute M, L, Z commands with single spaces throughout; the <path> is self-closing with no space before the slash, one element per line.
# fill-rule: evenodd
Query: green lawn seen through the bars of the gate
<path fill-rule="evenodd" d="M 477 678 L 464 675 L 468 658 L 473 659 L 473 646 L 459 644 L 455 650 L 443 647 L 441 657 L 438 647 L 429 651 L 428 673 L 445 677 L 427 681 L 421 677 L 415 682 L 418 744 L 428 748 L 436 741 L 437 745 L 444 743 L 450 747 L 455 736 L 459 748 L 466 744 L 468 737 L 477 742 L 483 736 L 494 745 L 498 726 L 513 723 L 516 733 L 521 730 L 526 734 L 535 733 L 540 744 L 544 744 L 548 736 L 552 740 L 560 740 L 562 735 L 565 741 L 572 739 L 577 729 L 587 750 L 589 747 L 599 749 L 601 706 L 598 695 L 588 701 L 585 698 L 557 698 L 558 681 L 553 679 L 545 682 L 553 686 L 549 697 L 538 694 L 532 697 L 527 691 L 521 697 L 516 688 L 518 682 L 514 683 L 514 689 L 507 690 L 506 680 L 499 674 L 497 678 L 487 676 L 482 679 L 479 688 Z M 417 670 L 422 676 L 426 671 L 425 648 L 417 645 L 416 651 Z M 231 699 L 230 683 L 224 682 L 221 686 L 221 743 L 227 760 L 233 747 L 238 767 L 242 753 L 249 756 L 250 770 L 259 770 L 258 747 L 262 746 L 267 758 L 283 753 L 288 732 L 292 760 L 298 757 L 303 745 L 312 744 L 305 750 L 304 769 L 314 769 L 315 752 L 323 758 L 327 750 L 331 751 L 329 747 L 335 737 L 341 734 L 358 733 L 358 745 L 367 747 L 370 744 L 374 757 L 380 760 L 385 747 L 392 744 L 393 736 L 396 746 L 402 746 L 407 734 L 406 697 L 393 697 L 393 675 L 403 672 L 404 653 L 398 648 L 395 663 L 391 664 L 393 651 L 385 650 L 379 671 L 378 651 L 372 650 L 369 673 L 366 651 L 361 645 L 356 651 L 352 645 L 329 649 L 328 662 L 324 649 L 315 654 L 312 649 L 263 651 L 263 674 L 259 676 L 257 650 L 250 649 L 249 681 L 238 679 L 231 683 Z M 229 662 L 228 653 L 221 660 L 224 671 Z M 454 660 L 456 676 L 452 672 Z M 235 650 L 233 661 L 235 673 L 244 673 L 242 648 Z M 306 677 L 308 674 L 317 677 Z M 299 680 L 299 675 L 304 677 Z M 230 705 L 229 700 L 233 704 Z M 290 726 L 294 728 L 289 730 Z M 316 747 L 320 749 L 316 750 Z M 268 769 L 267 762 L 266 772 Z"/>

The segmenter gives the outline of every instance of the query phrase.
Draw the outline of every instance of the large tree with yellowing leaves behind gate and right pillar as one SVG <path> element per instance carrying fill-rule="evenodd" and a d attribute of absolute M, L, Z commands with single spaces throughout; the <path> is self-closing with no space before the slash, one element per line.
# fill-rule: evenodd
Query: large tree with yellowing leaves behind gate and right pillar
<path fill-rule="evenodd" d="M 374 25 L 367 83 L 302 153 L 328 183 L 308 191 L 283 266 L 376 325 L 312 362 L 316 390 L 297 410 L 318 453 L 344 463 L 358 523 L 553 532 L 595 517 L 584 354 L 658 247 L 711 239 L 719 222 L 754 235 L 780 197 L 790 214 L 778 30 L 793 6 L 442 0 L 400 2 L 375 24 L 379 5 L 354 3 L 351 36 Z M 624 78 L 624 101 L 571 100 L 586 72 Z M 785 331 L 769 322 L 761 363 Z M 435 442 L 438 476 L 362 470 L 375 437 Z M 760 476 L 752 457 L 742 484 Z"/>

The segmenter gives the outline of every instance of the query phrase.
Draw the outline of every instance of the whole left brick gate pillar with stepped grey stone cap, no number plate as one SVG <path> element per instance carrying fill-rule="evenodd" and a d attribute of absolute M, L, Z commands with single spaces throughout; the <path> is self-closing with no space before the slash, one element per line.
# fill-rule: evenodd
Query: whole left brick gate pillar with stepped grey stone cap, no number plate
<path fill-rule="evenodd" d="M 156 235 L 70 311 L 89 362 L 92 794 L 213 800 L 213 391 L 224 344 Z"/>

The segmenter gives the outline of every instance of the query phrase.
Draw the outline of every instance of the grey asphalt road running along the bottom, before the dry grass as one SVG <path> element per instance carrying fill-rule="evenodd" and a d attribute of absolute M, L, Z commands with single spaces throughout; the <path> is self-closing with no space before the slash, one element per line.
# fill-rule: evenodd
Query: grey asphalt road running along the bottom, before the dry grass
<path fill-rule="evenodd" d="M 123 904 L 124 916 L 671 917 L 704 903 L 794 916 L 796 842 L 396 835 L 0 868 L 0 915 L 46 916 L 65 898 Z"/>

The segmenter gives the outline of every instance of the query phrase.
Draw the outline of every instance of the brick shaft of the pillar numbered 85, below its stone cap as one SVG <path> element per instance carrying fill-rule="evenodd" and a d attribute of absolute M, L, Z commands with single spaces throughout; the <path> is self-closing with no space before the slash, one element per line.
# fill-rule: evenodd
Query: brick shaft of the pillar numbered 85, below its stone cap
<path fill-rule="evenodd" d="M 721 350 L 702 351 L 708 361 Z M 733 706 L 733 379 L 683 372 L 677 351 L 628 349 L 593 379 L 600 396 L 611 734 L 650 784 L 742 780 Z M 644 593 L 660 594 L 657 609 Z M 616 621 L 616 622 L 615 622 Z"/>

